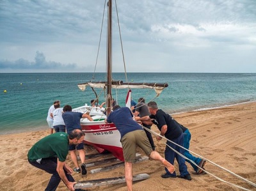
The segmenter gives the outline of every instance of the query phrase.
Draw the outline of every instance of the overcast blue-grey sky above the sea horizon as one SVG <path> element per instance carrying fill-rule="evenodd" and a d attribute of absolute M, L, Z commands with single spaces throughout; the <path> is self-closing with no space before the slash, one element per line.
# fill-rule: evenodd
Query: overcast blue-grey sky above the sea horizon
<path fill-rule="evenodd" d="M 256 72 L 255 0 L 116 3 L 127 72 Z M 0 0 L 0 73 L 93 72 L 103 10 L 104 0 Z M 113 72 L 124 72 L 113 10 Z M 102 32 L 96 72 L 105 42 Z"/>

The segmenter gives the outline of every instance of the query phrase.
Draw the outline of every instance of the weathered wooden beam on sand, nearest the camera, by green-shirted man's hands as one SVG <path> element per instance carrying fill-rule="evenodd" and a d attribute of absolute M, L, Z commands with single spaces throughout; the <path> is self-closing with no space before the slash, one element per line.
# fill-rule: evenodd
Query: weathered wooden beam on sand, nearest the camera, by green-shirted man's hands
<path fill-rule="evenodd" d="M 135 176 L 132 176 L 132 181 L 139 181 L 139 180 L 145 180 L 148 179 L 148 174 L 136 174 Z M 99 187 L 104 185 L 114 185 L 119 183 L 125 183 L 125 177 L 114 177 L 114 178 L 102 178 L 98 180 L 86 180 L 86 181 L 77 181 L 77 183 L 74 185 L 75 189 L 79 188 L 91 188 L 91 187 Z"/>

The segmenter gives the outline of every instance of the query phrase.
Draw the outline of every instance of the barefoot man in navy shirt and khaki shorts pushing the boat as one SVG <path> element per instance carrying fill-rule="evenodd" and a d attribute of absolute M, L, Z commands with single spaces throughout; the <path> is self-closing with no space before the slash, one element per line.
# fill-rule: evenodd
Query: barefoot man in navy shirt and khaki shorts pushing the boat
<path fill-rule="evenodd" d="M 165 160 L 157 151 L 153 151 L 145 131 L 133 119 L 133 114 L 128 107 L 115 105 L 106 119 L 106 123 L 114 123 L 121 134 L 121 142 L 125 161 L 125 181 L 127 190 L 132 190 L 132 162 L 136 159 L 136 146 L 139 146 L 153 160 L 161 162 L 168 172 L 175 171 L 174 166 Z"/>

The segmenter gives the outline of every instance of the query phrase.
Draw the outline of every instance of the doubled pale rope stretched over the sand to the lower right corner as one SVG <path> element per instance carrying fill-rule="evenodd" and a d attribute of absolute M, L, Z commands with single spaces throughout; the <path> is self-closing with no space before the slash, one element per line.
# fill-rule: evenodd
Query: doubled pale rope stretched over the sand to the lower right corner
<path fill-rule="evenodd" d="M 151 134 L 154 134 L 155 136 L 162 137 L 162 138 L 165 139 L 166 141 L 170 141 L 169 139 L 166 139 L 166 137 L 163 137 L 162 135 L 157 134 L 157 133 L 154 132 L 153 130 L 148 129 L 147 127 L 145 127 L 145 126 L 143 126 L 143 125 L 141 125 L 141 126 L 142 126 L 145 130 L 147 130 L 148 132 L 150 132 Z M 162 139 L 161 141 L 164 141 L 163 139 Z M 170 141 L 170 142 L 172 142 L 173 144 L 179 146 L 179 147 L 182 148 L 182 149 L 185 149 L 186 151 L 189 151 L 189 149 L 186 149 L 186 148 L 180 146 L 179 144 L 176 144 L 176 143 L 173 142 L 173 141 Z M 166 142 L 165 142 L 164 144 L 166 144 Z M 166 146 L 168 146 L 168 144 L 166 144 Z M 183 158 L 185 158 L 186 160 L 189 160 L 189 158 L 187 158 L 187 157 L 185 157 L 184 155 L 180 154 L 178 151 L 176 151 L 176 150 L 173 149 L 172 147 L 170 147 L 170 146 L 168 146 L 168 147 L 169 147 L 170 149 L 172 149 L 175 153 L 177 153 L 178 155 L 180 155 L 180 157 L 183 157 Z M 247 183 L 249 183 L 249 184 L 252 185 L 253 187 L 256 187 L 256 184 L 253 183 L 252 181 L 246 180 L 245 178 L 243 178 L 243 177 L 241 177 L 241 176 L 235 174 L 234 172 L 229 171 L 228 169 L 225 169 L 225 168 L 221 167 L 221 166 L 218 165 L 218 164 L 215 164 L 215 163 L 212 162 L 211 160 L 208 160 L 208 159 L 206 159 L 206 158 L 204 158 L 204 157 L 202 157 L 202 156 L 200 156 L 200 155 L 194 153 L 193 151 L 189 151 L 189 152 L 190 152 L 190 153 L 193 153 L 193 154 L 195 154 L 195 155 L 197 155 L 197 156 L 200 157 L 200 158 L 203 158 L 204 160 L 207 160 L 207 162 L 210 162 L 211 164 L 216 165 L 217 167 L 220 167 L 221 169 L 223 169 L 223 170 L 229 172 L 230 174 L 233 174 L 233 175 L 236 176 L 237 178 L 240 178 L 241 180 L 246 181 Z M 193 164 L 195 164 L 195 162 L 193 162 L 192 160 L 189 160 L 189 161 L 192 162 Z M 202 169 L 202 168 L 199 167 L 197 164 L 195 164 L 195 165 L 196 165 L 196 167 Z M 205 169 L 202 169 L 202 171 L 206 172 L 207 174 L 210 174 L 211 176 L 213 176 L 213 177 L 216 178 L 217 180 L 223 181 L 224 183 L 228 183 L 229 185 L 232 185 L 232 186 L 234 186 L 234 187 L 240 188 L 240 189 L 242 189 L 242 190 L 248 190 L 247 188 L 243 188 L 243 187 L 240 187 L 240 186 L 238 186 L 238 185 L 235 185 L 234 183 L 230 183 L 230 182 L 228 182 L 228 181 L 222 180 L 222 179 L 219 178 L 218 176 L 215 176 L 214 174 L 211 174 L 210 172 L 206 171 Z M 250 191 L 250 190 L 248 190 L 248 191 Z"/>

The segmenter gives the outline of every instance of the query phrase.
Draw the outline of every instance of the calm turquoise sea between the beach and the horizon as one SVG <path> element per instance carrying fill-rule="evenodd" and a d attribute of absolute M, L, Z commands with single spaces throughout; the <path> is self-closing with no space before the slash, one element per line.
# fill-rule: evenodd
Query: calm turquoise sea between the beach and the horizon
<path fill-rule="evenodd" d="M 154 101 L 169 114 L 206 110 L 256 101 L 256 73 L 113 73 L 113 80 L 168 83 L 157 96 L 154 89 L 132 89 L 132 99 Z M 97 79 L 97 80 L 96 80 Z M 91 88 L 77 84 L 106 80 L 105 73 L 0 73 L 0 134 L 44 130 L 54 100 L 61 107 L 90 104 Z M 118 105 L 125 106 L 127 89 L 112 89 Z M 95 89 L 99 102 L 106 92 Z"/>

